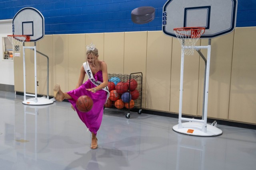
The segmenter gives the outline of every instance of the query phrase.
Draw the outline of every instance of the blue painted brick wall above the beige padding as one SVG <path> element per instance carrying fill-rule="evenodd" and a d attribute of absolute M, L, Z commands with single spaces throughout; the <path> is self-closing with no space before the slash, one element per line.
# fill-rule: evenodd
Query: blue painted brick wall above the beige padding
<path fill-rule="evenodd" d="M 162 7 L 167 0 L 0 0 L 0 20 L 12 19 L 24 7 L 39 10 L 46 34 L 162 30 Z M 131 12 L 140 6 L 156 9 L 156 18 L 135 24 Z M 256 0 L 238 0 L 236 27 L 256 26 Z"/>

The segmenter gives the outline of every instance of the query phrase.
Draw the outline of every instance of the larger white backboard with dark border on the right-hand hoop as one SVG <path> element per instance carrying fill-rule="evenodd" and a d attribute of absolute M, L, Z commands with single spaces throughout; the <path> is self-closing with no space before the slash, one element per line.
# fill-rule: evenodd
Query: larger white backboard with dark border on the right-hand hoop
<path fill-rule="evenodd" d="M 162 30 L 176 37 L 177 27 L 205 27 L 200 38 L 214 38 L 236 27 L 237 0 L 168 0 L 163 7 Z"/>

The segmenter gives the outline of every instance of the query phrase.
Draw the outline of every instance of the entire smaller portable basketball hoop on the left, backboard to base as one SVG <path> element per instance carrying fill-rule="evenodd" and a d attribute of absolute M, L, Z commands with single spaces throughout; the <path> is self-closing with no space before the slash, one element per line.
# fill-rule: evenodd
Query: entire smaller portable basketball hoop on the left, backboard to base
<path fill-rule="evenodd" d="M 54 98 L 49 99 L 49 57 L 39 51 L 36 50 L 36 41 L 44 38 L 44 16 L 38 11 L 36 8 L 25 7 L 19 10 L 14 18 L 12 19 L 12 33 L 14 35 L 8 35 L 8 38 L 12 42 L 14 57 L 20 57 L 20 51 L 22 49 L 23 55 L 23 88 L 24 88 L 24 100 L 22 104 L 26 105 L 48 105 L 54 102 Z M 23 35 L 26 34 L 26 35 Z M 34 46 L 32 43 L 29 46 L 24 46 L 24 42 L 34 42 Z M 16 48 L 18 47 L 18 48 Z M 34 51 L 34 94 L 26 92 L 26 53 L 25 50 L 30 49 Z M 15 53 L 16 52 L 16 53 Z M 36 53 L 47 58 L 47 96 L 38 98 L 38 79 L 37 79 L 37 56 Z M 30 58 L 31 59 L 31 58 Z M 31 61 L 31 60 L 30 60 Z M 29 72 L 32 70 L 28 70 Z M 28 81 L 30 82 L 30 81 Z M 31 89 L 30 89 L 31 90 Z M 32 98 L 27 98 L 30 96 Z"/>

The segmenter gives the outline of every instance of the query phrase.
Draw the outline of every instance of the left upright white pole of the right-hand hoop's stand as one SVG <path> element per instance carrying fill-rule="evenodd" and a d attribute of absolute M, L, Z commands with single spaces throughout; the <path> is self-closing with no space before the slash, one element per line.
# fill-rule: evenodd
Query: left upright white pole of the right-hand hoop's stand
<path fill-rule="evenodd" d="M 183 45 L 182 45 L 183 50 Z M 179 102 L 179 120 L 178 129 L 182 128 L 182 94 L 183 94 L 183 74 L 184 74 L 184 53 L 181 52 L 181 63 L 180 63 L 180 102 Z"/>

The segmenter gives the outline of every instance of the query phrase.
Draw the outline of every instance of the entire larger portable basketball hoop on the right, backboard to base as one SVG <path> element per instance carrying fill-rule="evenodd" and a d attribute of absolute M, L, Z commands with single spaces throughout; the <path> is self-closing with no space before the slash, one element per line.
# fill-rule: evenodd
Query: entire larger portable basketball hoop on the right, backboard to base
<path fill-rule="evenodd" d="M 193 3 L 191 0 L 167 0 L 163 6 L 162 31 L 168 36 L 178 38 L 182 47 L 179 119 L 178 125 L 172 127 L 178 133 L 202 137 L 222 134 L 222 130 L 216 127 L 216 121 L 207 123 L 211 39 L 231 33 L 235 29 L 237 6 L 238 0 L 193 0 Z M 195 46 L 198 39 L 208 39 L 208 45 Z M 182 95 L 186 91 L 183 89 L 184 55 L 194 54 L 194 49 L 205 64 L 202 119 L 182 117 Z M 207 49 L 207 57 L 204 57 L 200 49 Z"/>

